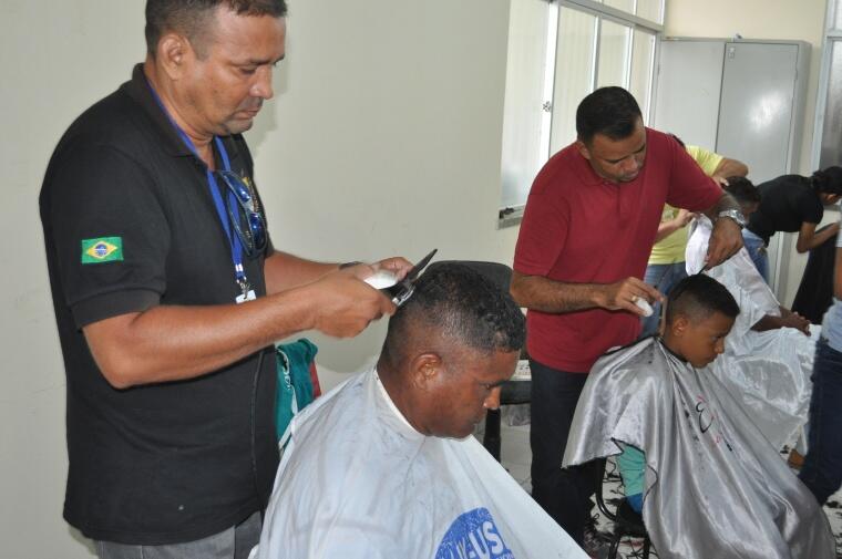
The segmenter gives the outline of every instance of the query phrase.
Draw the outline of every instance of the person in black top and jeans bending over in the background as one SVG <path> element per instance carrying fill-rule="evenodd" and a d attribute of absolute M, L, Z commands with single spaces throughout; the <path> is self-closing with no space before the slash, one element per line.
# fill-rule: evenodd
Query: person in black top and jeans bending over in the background
<path fill-rule="evenodd" d="M 842 167 L 817 170 L 810 177 L 783 175 L 758 185 L 760 207 L 742 230 L 749 251 L 760 275 L 769 281 L 769 259 L 766 247 L 778 231 L 798 231 L 795 250 L 807 252 L 836 235 L 839 224 L 819 232 L 824 206 L 835 204 L 842 196 Z"/>

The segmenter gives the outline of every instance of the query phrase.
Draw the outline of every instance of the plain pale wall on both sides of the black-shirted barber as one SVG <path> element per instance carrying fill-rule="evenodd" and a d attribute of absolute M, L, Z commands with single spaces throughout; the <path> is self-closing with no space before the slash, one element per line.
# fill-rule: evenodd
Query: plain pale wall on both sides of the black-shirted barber
<path fill-rule="evenodd" d="M 289 3 L 277 99 L 248 135 L 276 246 L 511 262 L 516 229 L 495 217 L 509 1 Z M 61 518 L 64 373 L 38 191 L 63 130 L 143 53 L 140 0 L 0 2 L 2 557 L 90 557 Z M 320 361 L 353 370 L 382 332 L 317 338 Z"/>

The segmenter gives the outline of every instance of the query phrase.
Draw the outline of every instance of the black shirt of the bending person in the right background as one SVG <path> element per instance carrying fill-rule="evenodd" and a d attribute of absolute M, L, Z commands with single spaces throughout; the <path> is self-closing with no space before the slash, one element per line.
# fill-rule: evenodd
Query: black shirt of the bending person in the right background
<path fill-rule="evenodd" d="M 783 175 L 758 185 L 760 207 L 751 214 L 748 229 L 769 245 L 777 231 L 795 232 L 801 224 L 818 224 L 824 206 L 810 179 L 800 175 Z"/>

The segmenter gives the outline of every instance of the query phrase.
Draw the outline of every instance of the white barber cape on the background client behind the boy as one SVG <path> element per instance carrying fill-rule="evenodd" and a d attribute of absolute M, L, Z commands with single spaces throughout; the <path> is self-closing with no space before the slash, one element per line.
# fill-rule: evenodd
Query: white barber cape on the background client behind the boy
<path fill-rule="evenodd" d="M 687 273 L 705 266 L 710 239 L 710 220 L 701 216 L 687 242 Z M 745 248 L 705 272 L 722 283 L 737 300 L 740 314 L 726 338 L 725 354 L 708 369 L 746 405 L 749 415 L 772 446 L 794 443 L 807 423 L 815 341 L 821 327 L 810 335 L 794 328 L 756 332 L 751 327 L 769 314 L 780 317 L 780 306 Z"/>

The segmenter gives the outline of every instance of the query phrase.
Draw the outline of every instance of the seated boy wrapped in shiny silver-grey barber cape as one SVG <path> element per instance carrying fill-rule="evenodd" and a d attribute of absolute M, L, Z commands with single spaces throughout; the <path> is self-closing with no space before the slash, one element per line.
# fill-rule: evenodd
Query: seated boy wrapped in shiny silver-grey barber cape
<path fill-rule="evenodd" d="M 815 499 L 705 370 L 725 351 L 738 313 L 712 278 L 681 280 L 669 293 L 661 338 L 594 365 L 564 466 L 624 448 L 636 454 L 638 472 L 626 469 L 623 478 L 627 486 L 641 478 L 643 518 L 661 559 L 834 558 Z"/>

